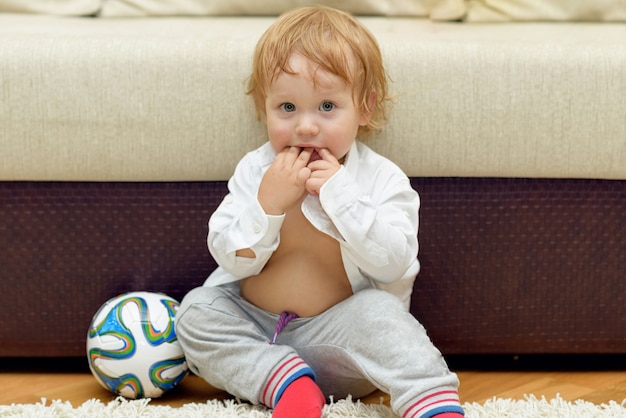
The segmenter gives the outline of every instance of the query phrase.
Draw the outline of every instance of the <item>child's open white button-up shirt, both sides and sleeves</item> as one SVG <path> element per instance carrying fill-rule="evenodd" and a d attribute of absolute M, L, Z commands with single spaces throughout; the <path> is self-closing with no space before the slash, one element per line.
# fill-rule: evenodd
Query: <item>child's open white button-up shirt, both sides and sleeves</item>
<path fill-rule="evenodd" d="M 229 193 L 209 220 L 207 243 L 219 267 L 205 286 L 236 284 L 259 274 L 278 248 L 285 215 L 266 215 L 257 200 L 263 174 L 276 153 L 268 143 L 242 158 L 228 182 Z M 419 196 L 390 160 L 356 141 L 344 164 L 320 190 L 308 195 L 302 213 L 335 238 L 353 292 L 380 288 L 409 309 L 419 272 Z M 237 257 L 250 248 L 255 258 Z"/>

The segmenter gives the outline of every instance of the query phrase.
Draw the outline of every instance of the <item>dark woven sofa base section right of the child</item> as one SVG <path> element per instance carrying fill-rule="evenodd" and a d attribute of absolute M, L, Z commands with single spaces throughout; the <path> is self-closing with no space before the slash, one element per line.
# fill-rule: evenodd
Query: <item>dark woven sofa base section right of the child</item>
<path fill-rule="evenodd" d="M 446 353 L 626 353 L 626 182 L 413 184 L 412 312 Z"/>

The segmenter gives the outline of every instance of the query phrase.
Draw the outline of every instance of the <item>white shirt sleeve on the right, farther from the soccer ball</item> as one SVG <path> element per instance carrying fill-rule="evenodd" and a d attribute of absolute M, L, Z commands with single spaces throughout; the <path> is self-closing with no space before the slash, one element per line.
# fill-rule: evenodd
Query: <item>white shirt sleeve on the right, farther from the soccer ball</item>
<path fill-rule="evenodd" d="M 390 284 L 414 272 L 419 196 L 403 173 L 381 166 L 357 181 L 342 167 L 322 187 L 320 204 L 344 253 L 367 276 Z"/>

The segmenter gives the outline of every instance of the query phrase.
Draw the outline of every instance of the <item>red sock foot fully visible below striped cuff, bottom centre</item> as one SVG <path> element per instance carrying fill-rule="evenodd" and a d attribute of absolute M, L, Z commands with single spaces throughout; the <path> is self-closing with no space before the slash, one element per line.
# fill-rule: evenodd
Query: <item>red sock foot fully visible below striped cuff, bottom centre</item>
<path fill-rule="evenodd" d="M 309 376 L 294 380 L 283 392 L 272 418 L 320 418 L 326 398 Z"/>

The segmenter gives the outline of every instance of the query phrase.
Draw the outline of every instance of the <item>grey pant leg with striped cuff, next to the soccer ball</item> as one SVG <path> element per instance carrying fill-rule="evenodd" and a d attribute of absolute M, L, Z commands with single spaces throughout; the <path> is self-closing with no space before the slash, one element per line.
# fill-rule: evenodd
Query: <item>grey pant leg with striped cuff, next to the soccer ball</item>
<path fill-rule="evenodd" d="M 273 408 L 296 378 L 313 370 L 289 346 L 270 345 L 277 315 L 221 287 L 200 287 L 183 299 L 176 334 L 189 368 L 211 385 Z"/>

